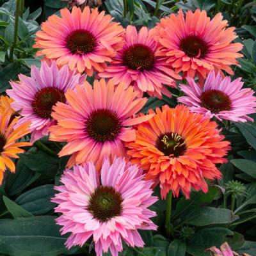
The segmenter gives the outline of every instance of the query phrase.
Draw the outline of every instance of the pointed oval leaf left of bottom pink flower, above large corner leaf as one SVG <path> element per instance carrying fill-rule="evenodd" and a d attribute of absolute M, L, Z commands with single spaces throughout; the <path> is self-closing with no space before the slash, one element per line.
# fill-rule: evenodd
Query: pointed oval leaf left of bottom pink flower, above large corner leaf
<path fill-rule="evenodd" d="M 42 215 L 51 211 L 56 204 L 51 202 L 54 196 L 54 185 L 44 185 L 26 191 L 15 202 L 35 215 Z"/>

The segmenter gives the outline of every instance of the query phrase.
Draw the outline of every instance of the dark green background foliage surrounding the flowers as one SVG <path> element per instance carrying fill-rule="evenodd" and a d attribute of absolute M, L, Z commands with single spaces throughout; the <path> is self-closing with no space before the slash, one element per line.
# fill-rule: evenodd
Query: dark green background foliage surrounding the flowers
<path fill-rule="evenodd" d="M 32 48 L 35 32 L 52 13 L 66 3 L 58 0 L 25 2 L 20 12 L 17 42 L 13 42 L 15 28 L 15 0 L 0 1 L 0 93 L 10 87 L 10 79 L 17 74 L 29 74 L 31 64 L 40 67 L 40 59 L 34 57 Z M 124 3 L 127 8 L 124 8 Z M 3 5 L 2 5 L 3 4 Z M 235 70 L 242 76 L 245 86 L 256 86 L 256 2 L 235 0 L 106 0 L 101 9 L 110 13 L 125 27 L 133 24 L 140 28 L 152 28 L 164 15 L 200 8 L 209 16 L 222 12 L 232 26 L 236 26 L 237 42 L 244 45 L 244 58 Z M 127 10 L 127 12 L 125 11 Z M 163 104 L 175 106 L 179 91 L 173 90 L 173 98 L 150 98 L 143 109 Z M 256 116 L 255 116 L 256 118 Z M 223 134 L 232 143 L 228 163 L 220 166 L 223 179 L 209 184 L 209 192 L 192 193 L 191 199 L 180 196 L 173 201 L 171 239 L 164 234 L 165 203 L 159 200 L 152 209 L 157 212 L 154 222 L 157 232 L 144 231 L 141 236 L 145 248 L 125 248 L 126 256 L 206 256 L 205 248 L 220 246 L 228 241 L 238 252 L 256 255 L 256 124 L 226 124 Z M 67 250 L 65 237 L 55 225 L 55 205 L 50 199 L 54 185 L 59 184 L 67 158 L 58 158 L 60 144 L 42 140 L 28 148 L 16 162 L 15 175 L 8 173 L 0 186 L 0 255 L 57 256 L 93 255 L 92 244 L 84 248 Z M 237 180 L 245 193 L 235 195 L 228 191 L 228 182 Z M 156 195 L 159 195 L 156 191 Z M 92 251 L 92 252 L 91 252 Z"/>

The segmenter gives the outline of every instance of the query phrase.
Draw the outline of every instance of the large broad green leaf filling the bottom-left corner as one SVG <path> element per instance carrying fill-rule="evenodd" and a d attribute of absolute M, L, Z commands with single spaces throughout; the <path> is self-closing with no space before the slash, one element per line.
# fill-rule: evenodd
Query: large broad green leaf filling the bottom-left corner
<path fill-rule="evenodd" d="M 12 256 L 70 255 L 54 216 L 0 220 L 0 253 Z"/>

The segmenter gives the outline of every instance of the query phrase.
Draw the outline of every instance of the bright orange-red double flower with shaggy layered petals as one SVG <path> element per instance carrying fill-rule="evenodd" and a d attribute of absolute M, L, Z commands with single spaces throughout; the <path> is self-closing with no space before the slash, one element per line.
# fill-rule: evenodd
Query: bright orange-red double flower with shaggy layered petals
<path fill-rule="evenodd" d="M 150 111 L 154 113 L 154 111 Z M 191 188 L 207 192 L 207 179 L 220 179 L 215 164 L 223 158 L 229 142 L 223 141 L 216 122 L 186 106 L 157 108 L 156 115 L 138 125 L 136 140 L 127 143 L 131 163 L 147 172 L 146 179 L 160 182 L 161 197 L 172 190 L 174 196 L 181 190 L 189 198 Z"/>

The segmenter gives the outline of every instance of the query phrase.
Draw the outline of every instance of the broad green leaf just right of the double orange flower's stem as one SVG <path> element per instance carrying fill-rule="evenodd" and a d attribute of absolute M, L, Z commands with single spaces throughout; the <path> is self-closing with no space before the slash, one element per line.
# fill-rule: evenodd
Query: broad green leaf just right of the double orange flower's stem
<path fill-rule="evenodd" d="M 186 223 L 198 227 L 232 223 L 239 217 L 234 216 L 232 211 L 222 208 L 201 207 L 194 212 L 188 212 Z"/>

